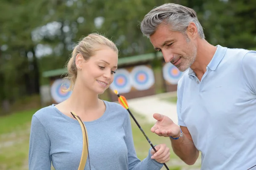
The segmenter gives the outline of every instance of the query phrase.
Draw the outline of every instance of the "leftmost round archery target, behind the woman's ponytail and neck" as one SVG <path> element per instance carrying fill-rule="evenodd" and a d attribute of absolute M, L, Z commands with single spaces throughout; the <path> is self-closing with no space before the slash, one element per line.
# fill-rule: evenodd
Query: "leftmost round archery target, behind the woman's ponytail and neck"
<path fill-rule="evenodd" d="M 64 92 L 63 90 L 68 89 L 70 86 L 70 81 L 63 79 L 56 79 L 51 86 L 51 96 L 55 102 L 63 102 L 70 97 L 71 91 Z"/>

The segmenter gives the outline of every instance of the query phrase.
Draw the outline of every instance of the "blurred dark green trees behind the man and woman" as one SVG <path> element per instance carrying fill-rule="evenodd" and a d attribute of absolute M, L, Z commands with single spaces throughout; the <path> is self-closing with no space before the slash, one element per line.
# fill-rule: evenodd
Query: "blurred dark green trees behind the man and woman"
<path fill-rule="evenodd" d="M 63 68 L 73 47 L 92 32 L 113 40 L 119 57 L 154 52 L 140 21 L 154 6 L 193 8 L 206 40 L 229 48 L 256 47 L 256 1 L 249 0 L 2 0 L 0 102 L 38 94 L 42 72 Z M 153 65 L 158 67 L 159 61 Z"/>

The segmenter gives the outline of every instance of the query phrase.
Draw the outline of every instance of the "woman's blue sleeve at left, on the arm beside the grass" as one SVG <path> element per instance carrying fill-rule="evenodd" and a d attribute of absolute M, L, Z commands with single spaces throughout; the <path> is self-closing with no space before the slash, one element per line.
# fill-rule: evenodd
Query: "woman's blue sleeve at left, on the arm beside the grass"
<path fill-rule="evenodd" d="M 34 115 L 29 139 L 29 170 L 50 170 L 50 140 L 44 126 Z"/>

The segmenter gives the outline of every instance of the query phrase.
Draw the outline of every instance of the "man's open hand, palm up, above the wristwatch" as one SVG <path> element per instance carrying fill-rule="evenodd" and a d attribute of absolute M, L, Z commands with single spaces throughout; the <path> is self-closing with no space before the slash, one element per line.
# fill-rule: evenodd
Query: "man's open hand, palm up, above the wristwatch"
<path fill-rule="evenodd" d="M 176 125 L 172 119 L 159 113 L 154 113 L 153 117 L 157 122 L 153 127 L 151 127 L 151 132 L 156 133 L 158 136 L 165 137 L 180 136 L 180 127 Z"/>

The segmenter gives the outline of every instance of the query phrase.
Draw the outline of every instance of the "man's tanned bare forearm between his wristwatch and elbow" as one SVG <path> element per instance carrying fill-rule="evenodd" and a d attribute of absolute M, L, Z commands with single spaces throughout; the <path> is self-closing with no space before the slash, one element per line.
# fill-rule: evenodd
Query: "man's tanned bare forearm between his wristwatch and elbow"
<path fill-rule="evenodd" d="M 170 138 L 172 142 L 172 149 L 174 153 L 179 156 L 180 159 L 183 160 L 186 164 L 195 164 L 195 161 L 199 156 L 199 151 L 193 143 L 189 130 L 184 126 L 180 126 L 180 129 L 183 133 L 183 136 L 180 137 L 180 139 Z M 177 136 L 172 137 L 177 138 L 178 136 L 180 136 L 180 133 Z"/>

